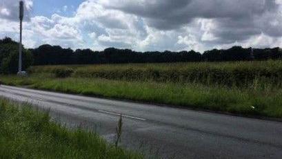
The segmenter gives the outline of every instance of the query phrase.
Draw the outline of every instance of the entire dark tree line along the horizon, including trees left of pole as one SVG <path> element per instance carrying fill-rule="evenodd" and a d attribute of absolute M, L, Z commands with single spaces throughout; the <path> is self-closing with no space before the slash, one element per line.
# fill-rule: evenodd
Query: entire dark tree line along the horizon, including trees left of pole
<path fill-rule="evenodd" d="M 18 43 L 9 37 L 0 39 L 0 66 L 17 71 Z M 29 65 L 59 64 L 125 64 L 159 62 L 230 62 L 246 60 L 282 59 L 281 48 L 242 48 L 233 46 L 227 50 L 207 50 L 203 54 L 190 51 L 137 52 L 130 49 L 106 48 L 102 51 L 90 49 L 61 48 L 44 44 L 38 48 L 23 48 L 23 68 Z M 0 70 L 1 71 L 1 70 Z M 1 71 L 2 73 L 4 71 Z"/>

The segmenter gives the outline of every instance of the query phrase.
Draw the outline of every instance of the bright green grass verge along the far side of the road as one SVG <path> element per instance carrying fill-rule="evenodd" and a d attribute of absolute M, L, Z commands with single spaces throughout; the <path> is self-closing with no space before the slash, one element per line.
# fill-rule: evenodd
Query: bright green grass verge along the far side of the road
<path fill-rule="evenodd" d="M 246 88 L 220 84 L 126 81 L 99 78 L 54 78 L 41 73 L 30 77 L 1 76 L 4 84 L 63 93 L 187 106 L 241 115 L 282 118 L 282 89 L 254 82 Z"/>

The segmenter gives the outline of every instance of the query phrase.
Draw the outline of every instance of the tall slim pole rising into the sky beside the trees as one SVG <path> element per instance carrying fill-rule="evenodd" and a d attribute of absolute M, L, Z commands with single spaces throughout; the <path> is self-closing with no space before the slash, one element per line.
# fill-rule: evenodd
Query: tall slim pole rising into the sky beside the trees
<path fill-rule="evenodd" d="M 19 74 L 21 74 L 21 49 L 22 47 L 22 30 L 23 30 L 23 1 L 19 1 Z"/>

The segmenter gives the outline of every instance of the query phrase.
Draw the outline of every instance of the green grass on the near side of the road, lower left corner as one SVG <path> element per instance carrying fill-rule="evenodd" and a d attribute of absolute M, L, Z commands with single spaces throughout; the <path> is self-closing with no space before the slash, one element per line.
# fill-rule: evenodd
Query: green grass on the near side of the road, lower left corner
<path fill-rule="evenodd" d="M 0 158 L 143 158 L 96 133 L 67 129 L 48 113 L 0 99 Z"/>

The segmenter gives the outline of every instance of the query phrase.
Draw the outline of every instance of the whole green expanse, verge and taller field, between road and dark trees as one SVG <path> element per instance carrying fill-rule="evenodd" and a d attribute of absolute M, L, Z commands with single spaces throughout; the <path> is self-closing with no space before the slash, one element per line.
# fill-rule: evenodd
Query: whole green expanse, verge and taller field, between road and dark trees
<path fill-rule="evenodd" d="M 4 84 L 282 118 L 282 62 L 34 66 Z"/>

